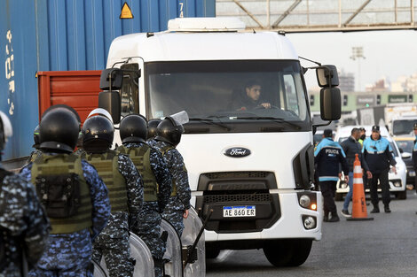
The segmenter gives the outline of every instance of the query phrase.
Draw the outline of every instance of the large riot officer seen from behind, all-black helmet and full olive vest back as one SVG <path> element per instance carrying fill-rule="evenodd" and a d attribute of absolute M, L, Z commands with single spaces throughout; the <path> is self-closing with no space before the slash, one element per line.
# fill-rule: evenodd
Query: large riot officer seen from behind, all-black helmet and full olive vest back
<path fill-rule="evenodd" d="M 51 106 L 39 126 L 42 158 L 21 172 L 35 184 L 52 227 L 30 276 L 92 276 L 91 242 L 106 226 L 110 204 L 97 171 L 73 154 L 79 128 L 71 109 Z"/>

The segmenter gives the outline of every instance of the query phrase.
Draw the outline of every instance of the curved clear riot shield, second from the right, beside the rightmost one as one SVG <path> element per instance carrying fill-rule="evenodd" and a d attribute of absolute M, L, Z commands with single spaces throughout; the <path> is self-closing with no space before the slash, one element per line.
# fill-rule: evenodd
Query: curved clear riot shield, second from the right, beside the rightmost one
<path fill-rule="evenodd" d="M 181 241 L 177 230 L 165 219 L 161 220 L 161 233 L 168 232 L 167 250 L 163 259 L 165 263 L 165 274 L 171 277 L 183 277 L 183 261 L 181 258 Z"/>

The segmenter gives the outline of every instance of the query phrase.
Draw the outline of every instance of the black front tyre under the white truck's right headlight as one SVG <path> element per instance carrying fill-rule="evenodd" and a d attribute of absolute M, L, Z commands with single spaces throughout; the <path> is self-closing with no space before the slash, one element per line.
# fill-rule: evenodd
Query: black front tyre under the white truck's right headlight
<path fill-rule="evenodd" d="M 293 239 L 268 242 L 264 254 L 277 267 L 303 265 L 310 255 L 311 240 Z"/>

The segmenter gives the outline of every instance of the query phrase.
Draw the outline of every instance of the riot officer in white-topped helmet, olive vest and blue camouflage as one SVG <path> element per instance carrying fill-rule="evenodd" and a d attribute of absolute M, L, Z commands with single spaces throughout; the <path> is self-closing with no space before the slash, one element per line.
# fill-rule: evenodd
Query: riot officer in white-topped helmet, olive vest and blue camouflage
<path fill-rule="evenodd" d="M 94 165 L 109 191 L 111 215 L 107 226 L 94 242 L 93 259 L 102 255 L 110 276 L 132 276 L 135 260 L 130 257 L 130 227 L 138 219 L 143 202 L 143 183 L 126 155 L 110 150 L 114 126 L 103 115 L 92 116 L 83 124 L 83 157 Z"/>

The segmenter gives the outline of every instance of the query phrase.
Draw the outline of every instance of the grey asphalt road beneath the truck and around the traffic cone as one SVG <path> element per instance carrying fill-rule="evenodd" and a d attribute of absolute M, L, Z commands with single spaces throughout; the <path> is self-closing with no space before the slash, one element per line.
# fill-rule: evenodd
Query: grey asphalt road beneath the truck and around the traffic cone
<path fill-rule="evenodd" d="M 340 212 L 342 202 L 336 204 Z M 322 240 L 301 266 L 274 267 L 263 250 L 223 250 L 207 260 L 207 276 L 417 276 L 417 196 L 409 190 L 390 208 L 384 213 L 380 203 L 373 221 L 324 222 Z"/>

